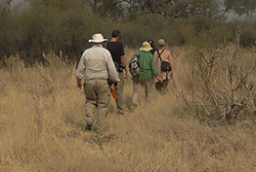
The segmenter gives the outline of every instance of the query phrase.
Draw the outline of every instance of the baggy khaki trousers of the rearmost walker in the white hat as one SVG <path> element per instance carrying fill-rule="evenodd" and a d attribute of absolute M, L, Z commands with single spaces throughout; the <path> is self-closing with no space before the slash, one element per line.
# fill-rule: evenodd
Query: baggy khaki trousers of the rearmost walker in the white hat
<path fill-rule="evenodd" d="M 93 124 L 97 112 L 101 124 L 106 120 L 110 103 L 110 91 L 107 80 L 92 79 L 85 82 L 86 123 Z"/>

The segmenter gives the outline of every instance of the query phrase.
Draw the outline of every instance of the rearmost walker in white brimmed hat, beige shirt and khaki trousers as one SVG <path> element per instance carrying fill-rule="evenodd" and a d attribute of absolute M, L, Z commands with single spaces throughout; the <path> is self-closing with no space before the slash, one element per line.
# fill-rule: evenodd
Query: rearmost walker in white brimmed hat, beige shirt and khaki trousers
<path fill-rule="evenodd" d="M 86 96 L 86 128 L 92 130 L 95 124 L 95 113 L 97 112 L 97 127 L 103 128 L 107 118 L 108 106 L 110 103 L 110 90 L 107 85 L 107 78 L 117 83 L 119 87 L 118 73 L 114 67 L 110 52 L 103 47 L 107 39 L 101 33 L 92 36 L 93 46 L 85 50 L 80 58 L 76 82 L 81 88 L 81 80 L 84 78 L 84 93 Z"/>

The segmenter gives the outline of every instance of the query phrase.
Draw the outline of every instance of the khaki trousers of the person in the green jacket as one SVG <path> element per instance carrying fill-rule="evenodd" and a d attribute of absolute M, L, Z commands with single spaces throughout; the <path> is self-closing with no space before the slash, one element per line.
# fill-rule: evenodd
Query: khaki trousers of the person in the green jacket
<path fill-rule="evenodd" d="M 138 99 L 145 87 L 145 98 L 146 101 L 150 101 L 152 93 L 153 93 L 153 84 L 154 80 L 151 81 L 133 81 L 133 95 L 132 102 L 134 105 L 138 105 Z"/>

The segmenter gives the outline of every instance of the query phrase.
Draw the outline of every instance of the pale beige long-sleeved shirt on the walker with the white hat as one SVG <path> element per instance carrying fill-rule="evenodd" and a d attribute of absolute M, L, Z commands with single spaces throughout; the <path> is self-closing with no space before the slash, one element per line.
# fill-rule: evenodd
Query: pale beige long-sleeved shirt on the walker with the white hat
<path fill-rule="evenodd" d="M 107 80 L 107 78 L 113 82 L 120 81 L 110 52 L 99 44 L 84 51 L 80 58 L 76 75 L 77 83 L 80 83 L 83 77 L 85 81 L 91 79 Z"/>

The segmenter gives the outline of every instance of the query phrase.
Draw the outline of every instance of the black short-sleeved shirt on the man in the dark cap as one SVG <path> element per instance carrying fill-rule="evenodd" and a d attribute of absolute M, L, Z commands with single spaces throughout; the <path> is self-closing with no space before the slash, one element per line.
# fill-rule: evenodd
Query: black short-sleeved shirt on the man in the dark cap
<path fill-rule="evenodd" d="M 120 42 L 107 42 L 106 49 L 111 53 L 113 61 L 121 63 L 121 56 L 125 54 Z"/>

